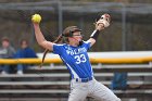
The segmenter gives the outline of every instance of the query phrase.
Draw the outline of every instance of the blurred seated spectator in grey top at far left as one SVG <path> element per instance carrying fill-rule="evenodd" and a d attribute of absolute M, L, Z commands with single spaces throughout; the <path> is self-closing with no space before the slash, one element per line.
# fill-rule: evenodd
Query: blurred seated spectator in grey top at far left
<path fill-rule="evenodd" d="M 2 48 L 0 52 L 0 58 L 2 59 L 12 59 L 15 53 L 15 49 L 10 45 L 10 40 L 8 37 L 2 38 Z M 1 65 L 1 74 L 9 74 L 11 72 L 11 65 L 4 64 Z"/>

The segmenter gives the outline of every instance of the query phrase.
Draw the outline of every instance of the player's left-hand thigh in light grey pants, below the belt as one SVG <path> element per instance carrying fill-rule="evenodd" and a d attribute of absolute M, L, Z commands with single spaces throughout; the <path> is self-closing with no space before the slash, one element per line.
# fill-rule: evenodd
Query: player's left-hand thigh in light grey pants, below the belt
<path fill-rule="evenodd" d="M 85 85 L 75 84 L 71 89 L 68 101 L 84 101 L 88 94 L 88 89 Z"/>

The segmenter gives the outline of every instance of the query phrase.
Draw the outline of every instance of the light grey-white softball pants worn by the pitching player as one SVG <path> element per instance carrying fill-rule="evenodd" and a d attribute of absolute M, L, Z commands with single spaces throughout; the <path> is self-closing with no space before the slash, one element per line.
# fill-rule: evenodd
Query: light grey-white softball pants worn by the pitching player
<path fill-rule="evenodd" d="M 86 97 L 92 97 L 98 101 L 121 101 L 107 87 L 96 79 L 88 83 L 71 81 L 68 101 L 85 101 Z"/>

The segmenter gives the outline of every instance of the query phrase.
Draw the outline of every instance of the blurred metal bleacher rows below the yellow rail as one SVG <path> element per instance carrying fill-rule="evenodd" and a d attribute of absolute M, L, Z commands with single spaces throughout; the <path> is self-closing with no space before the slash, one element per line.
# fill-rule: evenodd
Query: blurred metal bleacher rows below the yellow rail
<path fill-rule="evenodd" d="M 39 58 L 41 58 L 40 55 Z M 26 70 L 24 75 L 0 75 L 0 101 L 67 101 L 69 74 L 66 67 L 60 62 L 45 64 L 41 70 L 38 66 Z M 123 101 L 131 101 L 131 99 L 151 101 L 151 62 L 139 62 L 138 64 L 92 63 L 92 67 L 97 80 L 107 87 L 111 85 L 114 72 L 128 73 L 127 89 L 113 90 Z M 94 100 L 87 98 L 86 101 Z"/>

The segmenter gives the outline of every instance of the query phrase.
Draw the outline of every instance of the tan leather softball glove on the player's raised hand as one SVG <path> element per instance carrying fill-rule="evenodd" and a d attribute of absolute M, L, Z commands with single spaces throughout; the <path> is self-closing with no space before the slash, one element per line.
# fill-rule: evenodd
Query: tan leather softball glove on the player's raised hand
<path fill-rule="evenodd" d="M 104 27 L 109 27 L 111 22 L 111 16 L 109 14 L 103 14 L 101 17 L 97 21 L 97 25 L 103 24 Z"/>

